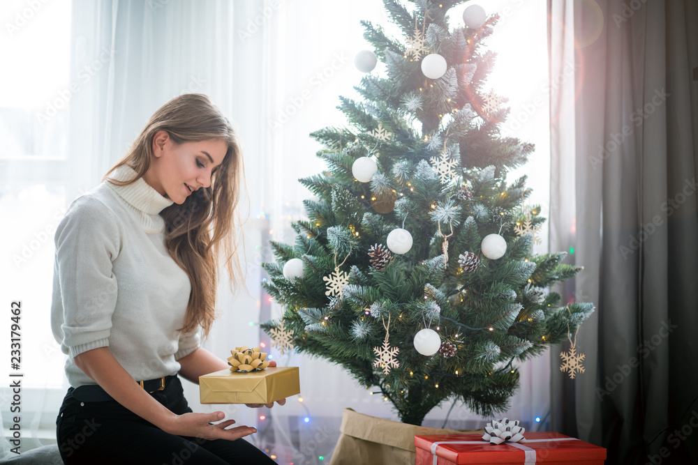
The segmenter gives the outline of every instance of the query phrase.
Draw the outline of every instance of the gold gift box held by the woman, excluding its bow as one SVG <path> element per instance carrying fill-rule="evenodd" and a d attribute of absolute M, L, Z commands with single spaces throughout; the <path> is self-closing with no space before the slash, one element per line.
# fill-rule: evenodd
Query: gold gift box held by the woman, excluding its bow
<path fill-rule="evenodd" d="M 258 372 L 219 372 L 199 376 L 202 404 L 271 404 L 300 394 L 298 367 L 268 367 Z"/>

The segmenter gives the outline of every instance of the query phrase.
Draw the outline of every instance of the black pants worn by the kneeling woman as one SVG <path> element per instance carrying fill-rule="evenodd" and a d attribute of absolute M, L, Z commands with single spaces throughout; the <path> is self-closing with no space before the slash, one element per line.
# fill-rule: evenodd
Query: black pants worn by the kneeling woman
<path fill-rule="evenodd" d="M 56 420 L 61 457 L 67 465 L 225 465 L 274 464 L 264 452 L 244 439 L 228 441 L 164 432 L 114 399 L 84 402 L 68 388 Z M 165 390 L 151 393 L 170 411 L 191 412 L 177 376 Z M 82 396 L 80 396 L 82 397 Z"/>

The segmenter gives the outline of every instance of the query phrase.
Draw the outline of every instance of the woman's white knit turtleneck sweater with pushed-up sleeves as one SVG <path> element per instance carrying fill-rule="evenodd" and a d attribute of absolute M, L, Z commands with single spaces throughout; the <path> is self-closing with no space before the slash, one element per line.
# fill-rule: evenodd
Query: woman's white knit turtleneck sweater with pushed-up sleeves
<path fill-rule="evenodd" d="M 126 165 L 111 178 L 135 177 Z M 104 181 L 70 204 L 56 230 L 51 326 L 68 354 L 70 386 L 94 384 L 73 358 L 109 347 L 136 381 L 179 372 L 200 344 L 184 326 L 191 282 L 165 249 L 160 215 L 172 200 L 140 178 Z"/>

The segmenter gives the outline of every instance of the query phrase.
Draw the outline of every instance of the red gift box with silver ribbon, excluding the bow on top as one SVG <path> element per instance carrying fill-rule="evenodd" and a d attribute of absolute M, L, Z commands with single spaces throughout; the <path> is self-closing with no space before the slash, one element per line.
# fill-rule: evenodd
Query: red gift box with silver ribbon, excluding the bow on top
<path fill-rule="evenodd" d="M 525 433 L 525 443 L 491 444 L 482 434 L 415 436 L 417 465 L 602 465 L 606 449 L 564 434 Z"/>

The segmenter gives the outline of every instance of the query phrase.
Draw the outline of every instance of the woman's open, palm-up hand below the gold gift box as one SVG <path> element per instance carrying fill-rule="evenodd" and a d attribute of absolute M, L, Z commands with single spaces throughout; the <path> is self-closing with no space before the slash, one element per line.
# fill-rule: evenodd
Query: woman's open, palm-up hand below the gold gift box
<path fill-rule="evenodd" d="M 220 421 L 223 418 L 225 418 L 225 413 L 221 411 L 214 413 L 184 413 L 184 415 L 175 416 L 168 421 L 163 430 L 177 436 L 193 436 L 195 438 L 208 439 L 209 441 L 214 439 L 235 441 L 257 432 L 257 429 L 248 426 L 225 429 L 235 423 L 235 420 L 225 420 L 216 425 L 211 425 L 211 422 Z"/>

